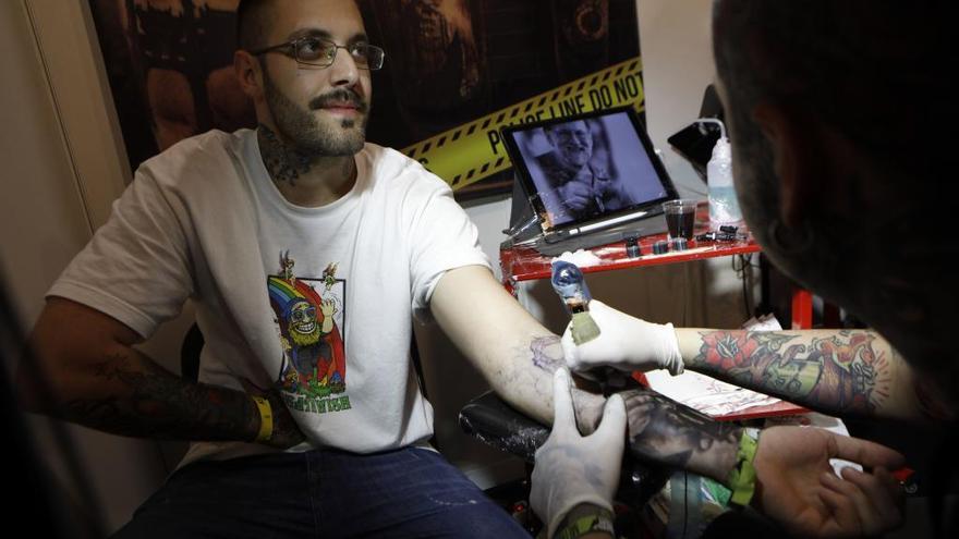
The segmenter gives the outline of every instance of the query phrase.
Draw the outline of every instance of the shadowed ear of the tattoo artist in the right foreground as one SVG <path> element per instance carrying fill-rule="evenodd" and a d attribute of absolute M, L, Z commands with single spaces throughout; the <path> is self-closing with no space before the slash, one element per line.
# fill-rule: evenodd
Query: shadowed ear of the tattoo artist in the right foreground
<path fill-rule="evenodd" d="M 823 156 L 816 130 L 809 114 L 796 109 L 762 102 L 753 109 L 753 120 L 769 142 L 773 167 L 779 182 L 779 217 L 787 226 L 798 226 L 823 191 Z"/>

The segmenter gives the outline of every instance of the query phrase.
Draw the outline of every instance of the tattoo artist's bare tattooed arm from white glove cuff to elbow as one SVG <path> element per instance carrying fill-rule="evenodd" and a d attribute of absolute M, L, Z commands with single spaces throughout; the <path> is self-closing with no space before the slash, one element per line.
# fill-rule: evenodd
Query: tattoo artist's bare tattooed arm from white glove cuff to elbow
<path fill-rule="evenodd" d="M 912 370 L 869 330 L 677 329 L 689 369 L 839 416 L 930 419 Z"/>

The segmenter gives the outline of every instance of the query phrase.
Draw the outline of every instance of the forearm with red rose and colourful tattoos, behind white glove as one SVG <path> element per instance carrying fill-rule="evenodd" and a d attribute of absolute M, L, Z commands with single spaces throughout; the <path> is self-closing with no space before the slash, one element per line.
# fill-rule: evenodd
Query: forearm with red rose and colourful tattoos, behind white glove
<path fill-rule="evenodd" d="M 701 332 L 687 365 L 737 385 L 838 414 L 873 414 L 889 396 L 887 352 L 866 331 Z"/>

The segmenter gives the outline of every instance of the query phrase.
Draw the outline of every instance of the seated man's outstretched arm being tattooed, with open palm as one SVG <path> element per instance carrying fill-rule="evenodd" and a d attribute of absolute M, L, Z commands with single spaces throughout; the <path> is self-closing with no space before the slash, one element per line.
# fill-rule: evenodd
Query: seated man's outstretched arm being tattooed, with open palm
<path fill-rule="evenodd" d="M 559 338 L 510 297 L 489 270 L 472 266 L 448 271 L 436 286 L 430 309 L 500 396 L 539 421 L 551 422 L 553 372 L 563 365 Z M 739 427 L 715 421 L 651 390 L 621 395 L 627 451 L 728 485 L 737 463 Z M 604 399 L 574 390 L 572 400 L 580 430 L 592 432 Z M 857 461 L 876 473 L 843 473 L 839 479 L 830 471 L 830 457 Z M 885 470 L 901 461 L 901 455 L 881 445 L 822 429 L 768 429 L 756 450 L 753 504 L 799 537 L 875 534 L 899 522 L 896 485 Z"/>

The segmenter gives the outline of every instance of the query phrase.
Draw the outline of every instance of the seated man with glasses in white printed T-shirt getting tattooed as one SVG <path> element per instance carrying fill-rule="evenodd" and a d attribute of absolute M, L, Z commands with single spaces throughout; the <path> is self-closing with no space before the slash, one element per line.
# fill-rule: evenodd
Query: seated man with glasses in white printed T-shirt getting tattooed
<path fill-rule="evenodd" d="M 365 143 L 371 71 L 384 53 L 366 42 L 353 0 L 244 0 L 238 16 L 234 68 L 259 126 L 189 138 L 137 170 L 48 293 L 31 343 L 49 387 L 20 369 L 25 406 L 193 441 L 118 537 L 525 536 L 428 448 L 411 317 L 435 318 L 503 399 L 544 422 L 559 338 L 494 279 L 449 187 Z M 134 347 L 187 298 L 206 336 L 198 382 Z M 596 429 L 604 399 L 560 385 L 571 391 L 563 417 Z M 610 400 L 619 428 L 604 439 L 622 442 L 629 415 L 632 454 L 726 480 L 742 429 L 676 404 L 644 412 L 659 404 L 643 390 Z M 695 446 L 661 445 L 667 426 L 699 432 Z M 764 434 L 772 477 L 825 466 L 825 451 L 802 462 L 762 453 L 802 438 Z M 600 516 L 606 534 L 609 502 L 584 490 L 594 464 L 560 462 L 563 474 L 546 482 L 563 492 L 546 497 L 557 502 L 542 515 L 550 534 Z M 763 485 L 772 505 L 817 482 Z"/>

